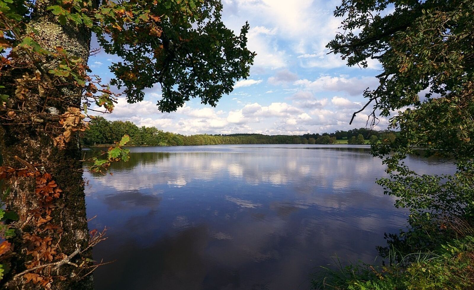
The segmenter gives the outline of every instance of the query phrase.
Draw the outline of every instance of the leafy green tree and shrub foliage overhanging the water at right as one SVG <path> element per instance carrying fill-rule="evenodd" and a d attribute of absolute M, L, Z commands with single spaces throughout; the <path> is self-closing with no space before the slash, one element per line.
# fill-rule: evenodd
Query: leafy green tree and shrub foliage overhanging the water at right
<path fill-rule="evenodd" d="M 399 110 L 390 119 L 390 127 L 400 130 L 398 136 L 382 137 L 372 149 L 390 174 L 378 183 L 385 193 L 399 198 L 397 207 L 410 208 L 409 233 L 392 240 L 411 243 L 407 251 L 426 252 L 452 236 L 455 226 L 443 225 L 456 221 L 472 225 L 473 9 L 474 2 L 468 0 L 343 0 L 335 10 L 336 16 L 345 17 L 344 33 L 328 48 L 348 65 L 367 67 L 373 59 L 383 67 L 378 87 L 364 92 L 368 102 L 362 109 L 374 103 L 373 122 L 377 114 L 387 117 Z M 421 175 L 401 162 L 408 154 L 420 154 L 420 147 L 425 156 L 454 160 L 456 173 Z M 427 228 L 444 235 L 410 234 Z"/>

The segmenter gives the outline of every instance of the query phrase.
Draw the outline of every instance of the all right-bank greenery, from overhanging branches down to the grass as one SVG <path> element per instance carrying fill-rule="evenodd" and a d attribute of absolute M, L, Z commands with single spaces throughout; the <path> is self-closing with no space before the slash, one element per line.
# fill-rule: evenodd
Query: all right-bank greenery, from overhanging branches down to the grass
<path fill-rule="evenodd" d="M 410 215 L 408 227 L 387 234 L 379 248 L 385 264 L 323 270 L 316 288 L 474 288 L 473 10 L 467 0 L 343 1 L 336 8 L 344 33 L 328 48 L 348 65 L 382 64 L 365 107 L 373 104 L 373 124 L 392 116 L 399 133 L 372 145 L 389 174 L 377 183 Z M 416 172 L 403 162 L 408 154 L 445 158 L 456 172 Z"/>

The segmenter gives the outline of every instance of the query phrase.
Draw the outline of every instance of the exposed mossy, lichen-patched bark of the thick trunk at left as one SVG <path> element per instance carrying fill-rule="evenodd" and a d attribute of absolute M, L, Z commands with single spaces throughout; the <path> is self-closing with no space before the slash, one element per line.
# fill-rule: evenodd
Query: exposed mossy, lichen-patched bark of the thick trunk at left
<path fill-rule="evenodd" d="M 69 54 L 81 57 L 84 63 L 87 63 L 90 51 L 91 31 L 86 27 L 66 24 L 61 26 L 57 18 L 46 9 L 49 5 L 55 5 L 53 0 L 38 0 L 36 9 L 32 15 L 30 25 L 39 32 L 41 40 L 40 45 L 50 51 L 55 51 L 57 46 L 63 47 Z M 44 71 L 55 68 L 57 63 L 51 61 L 44 65 Z M 47 94 L 48 92 L 46 92 Z M 68 105 L 74 104 L 74 107 L 80 108 L 82 91 L 77 87 L 65 87 L 63 89 Z M 65 104 L 60 102 L 51 103 L 50 111 L 52 114 L 62 114 L 67 110 Z M 78 134 L 66 143 L 64 149 L 59 149 L 53 143 L 51 136 L 46 134 L 45 123 L 32 125 L 4 125 L 1 124 L 0 134 L 1 151 L 5 166 L 14 168 L 25 167 L 24 164 L 15 159 L 15 156 L 31 164 L 41 164 L 42 172 L 48 172 L 53 180 L 63 191 L 61 197 L 55 201 L 56 208 L 52 211 L 52 223 L 62 227 L 61 236 L 57 234 L 53 237 L 53 243 L 59 241 L 61 252 L 70 255 L 77 248 L 85 249 L 88 245 L 89 234 L 86 219 L 84 185 L 82 180 L 82 162 L 81 145 Z M 51 126 L 51 125 L 49 125 Z M 55 124 L 59 126 L 59 124 Z M 7 209 L 14 210 L 19 215 L 19 220 L 15 222 L 15 227 L 20 232 L 14 238 L 14 252 L 17 254 L 11 261 L 12 269 L 4 281 L 6 289 L 43 289 L 38 284 L 32 282 L 25 283 L 23 277 L 12 280 L 15 274 L 26 270 L 25 263 L 31 260 L 27 255 L 26 245 L 22 240 L 22 233 L 31 230 L 31 211 L 38 208 L 38 201 L 35 194 L 34 178 L 16 178 L 8 184 L 12 193 L 8 197 Z M 91 252 L 88 253 L 91 257 Z M 84 255 L 82 255 L 83 257 Z M 78 256 L 71 262 L 77 262 Z M 93 289 L 92 276 L 76 281 L 77 268 L 72 265 L 64 265 L 59 270 L 59 275 L 66 277 L 65 281 L 55 279 L 53 289 Z M 82 275 L 85 273 L 81 273 Z M 51 275 L 57 275 L 56 271 Z M 76 277 L 74 277 L 76 275 Z M 2 282 L 4 282 L 2 281 Z"/>

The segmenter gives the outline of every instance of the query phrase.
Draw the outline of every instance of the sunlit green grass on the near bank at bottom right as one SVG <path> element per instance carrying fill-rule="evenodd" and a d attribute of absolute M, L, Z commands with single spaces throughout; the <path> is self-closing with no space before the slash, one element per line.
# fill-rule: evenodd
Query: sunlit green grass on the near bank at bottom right
<path fill-rule="evenodd" d="M 474 236 L 441 245 L 429 253 L 405 255 L 399 263 L 364 263 L 336 270 L 321 268 L 312 280 L 315 289 L 332 290 L 467 290 L 474 289 Z"/>

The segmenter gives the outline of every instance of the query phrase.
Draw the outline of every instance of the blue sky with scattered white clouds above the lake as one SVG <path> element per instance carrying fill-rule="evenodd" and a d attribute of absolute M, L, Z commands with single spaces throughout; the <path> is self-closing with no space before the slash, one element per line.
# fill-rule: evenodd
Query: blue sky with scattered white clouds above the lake
<path fill-rule="evenodd" d="M 365 127 L 366 111 L 353 124 L 353 112 L 362 108 L 366 88 L 376 88 L 374 77 L 381 65 L 348 67 L 338 55 L 327 54 L 341 18 L 333 16 L 340 0 L 222 0 L 224 24 L 235 31 L 250 24 L 247 47 L 255 51 L 254 65 L 246 80 L 224 95 L 213 108 L 192 99 L 172 113 L 161 113 L 156 100 L 159 88 L 146 91 L 145 100 L 128 104 L 119 98 L 109 120 L 132 121 L 137 126 L 192 134 L 260 133 L 302 135 Z M 91 56 L 93 73 L 107 81 L 108 66 L 117 56 L 100 52 Z M 387 119 L 375 129 L 385 129 Z"/>

